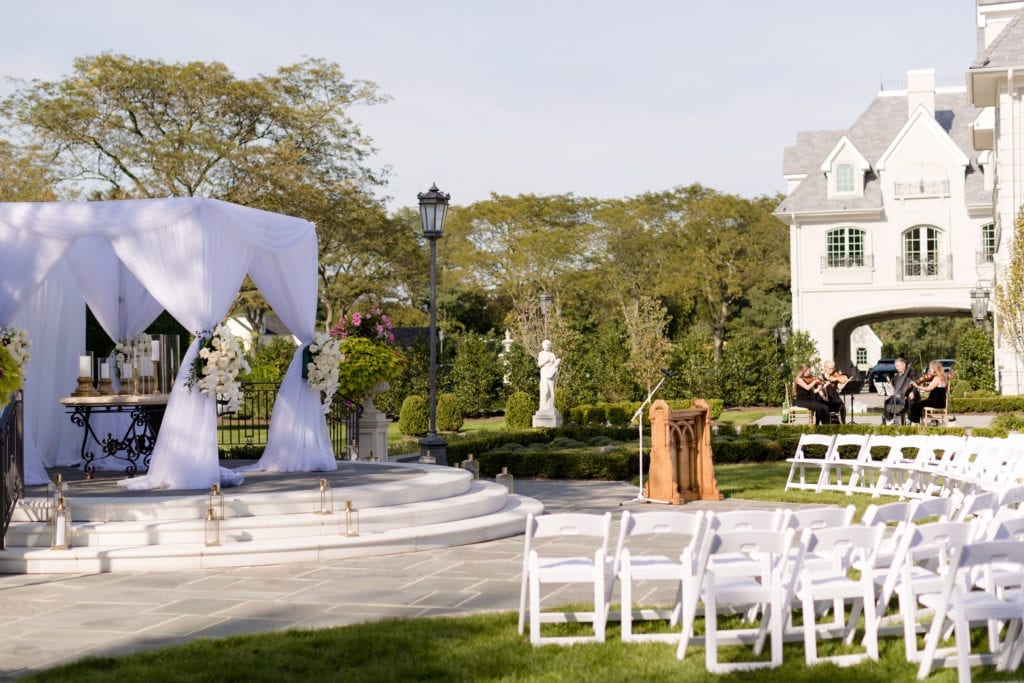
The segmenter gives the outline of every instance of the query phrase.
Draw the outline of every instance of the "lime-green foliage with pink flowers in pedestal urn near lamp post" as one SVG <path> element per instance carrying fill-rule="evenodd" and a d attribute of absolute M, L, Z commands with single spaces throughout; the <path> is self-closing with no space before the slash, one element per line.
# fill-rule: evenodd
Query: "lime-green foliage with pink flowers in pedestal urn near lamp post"
<path fill-rule="evenodd" d="M 338 340 L 341 365 L 338 392 L 355 399 L 368 394 L 379 382 L 387 382 L 401 370 L 406 359 L 394 348 L 391 321 L 380 308 L 369 313 L 342 315 L 331 336 Z"/>

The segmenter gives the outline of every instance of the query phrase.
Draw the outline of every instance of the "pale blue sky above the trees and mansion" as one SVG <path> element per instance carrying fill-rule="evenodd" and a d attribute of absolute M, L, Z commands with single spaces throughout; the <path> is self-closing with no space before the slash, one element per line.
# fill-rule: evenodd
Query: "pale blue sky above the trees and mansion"
<path fill-rule="evenodd" d="M 0 0 L 0 12 L 4 77 L 57 79 L 114 51 L 242 78 L 315 56 L 375 81 L 392 100 L 351 114 L 391 168 L 391 207 L 434 181 L 454 204 L 782 190 L 797 131 L 846 128 L 880 80 L 962 77 L 976 54 L 973 0 Z"/>

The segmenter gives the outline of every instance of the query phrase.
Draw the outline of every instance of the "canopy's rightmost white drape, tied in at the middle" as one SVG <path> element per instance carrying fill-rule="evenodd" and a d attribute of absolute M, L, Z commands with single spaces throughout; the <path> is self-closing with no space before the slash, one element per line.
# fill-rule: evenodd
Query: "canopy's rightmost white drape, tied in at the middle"
<path fill-rule="evenodd" d="M 319 391 L 302 379 L 302 351 L 312 341 L 316 324 L 316 238 L 288 251 L 260 250 L 249 275 L 299 338 L 299 348 L 285 373 L 270 414 L 263 456 L 254 469 L 270 472 L 325 472 L 338 468 L 321 410 Z"/>

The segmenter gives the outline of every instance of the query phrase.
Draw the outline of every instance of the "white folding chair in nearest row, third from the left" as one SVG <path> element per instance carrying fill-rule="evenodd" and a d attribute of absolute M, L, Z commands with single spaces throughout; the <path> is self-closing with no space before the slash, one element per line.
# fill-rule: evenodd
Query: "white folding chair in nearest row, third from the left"
<path fill-rule="evenodd" d="M 746 529 L 716 532 L 711 537 L 711 555 L 743 554 L 751 562 L 746 573 L 717 574 L 714 563 L 709 561 L 703 572 L 699 598 L 705 605 L 705 656 L 706 667 L 712 673 L 750 671 L 782 664 L 782 639 L 790 602 L 793 599 L 797 573 L 802 554 L 787 559 L 794 543 L 794 531 Z M 718 611 L 722 607 L 752 607 L 767 605 L 758 629 L 719 631 Z M 683 658 L 690 633 L 684 621 L 683 637 L 676 654 Z M 767 637 L 771 637 L 769 660 L 724 663 L 718 658 L 721 644 L 753 644 L 754 654 L 760 655 Z"/>

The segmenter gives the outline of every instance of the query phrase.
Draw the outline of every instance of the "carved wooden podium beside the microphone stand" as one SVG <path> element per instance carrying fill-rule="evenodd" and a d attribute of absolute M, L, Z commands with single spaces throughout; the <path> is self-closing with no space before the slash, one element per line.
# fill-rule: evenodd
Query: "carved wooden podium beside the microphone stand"
<path fill-rule="evenodd" d="M 644 497 L 658 503 L 721 501 L 711 458 L 711 410 L 697 398 L 693 408 L 673 411 L 664 400 L 650 405 L 650 472 Z"/>

